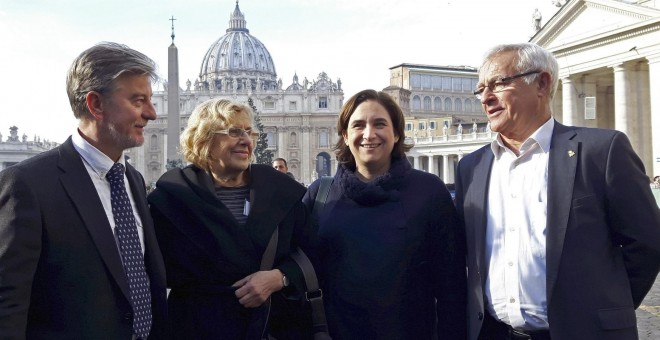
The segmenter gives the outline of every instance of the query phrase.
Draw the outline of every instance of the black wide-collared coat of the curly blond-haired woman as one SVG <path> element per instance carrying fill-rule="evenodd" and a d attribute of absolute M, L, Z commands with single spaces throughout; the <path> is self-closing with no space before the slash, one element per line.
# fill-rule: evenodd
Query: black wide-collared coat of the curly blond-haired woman
<path fill-rule="evenodd" d="M 289 253 L 308 237 L 305 188 L 269 166 L 254 164 L 249 171 L 251 210 L 244 226 L 216 197 L 211 177 L 195 166 L 168 171 L 148 197 L 172 289 L 174 338 L 245 338 L 255 309 L 242 307 L 231 285 L 259 271 L 277 227 L 275 268 L 292 282 L 284 293 L 298 296 L 304 289 Z M 279 309 L 274 304 L 271 314 Z"/>

